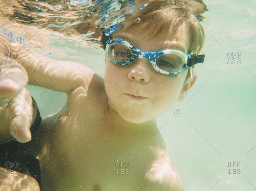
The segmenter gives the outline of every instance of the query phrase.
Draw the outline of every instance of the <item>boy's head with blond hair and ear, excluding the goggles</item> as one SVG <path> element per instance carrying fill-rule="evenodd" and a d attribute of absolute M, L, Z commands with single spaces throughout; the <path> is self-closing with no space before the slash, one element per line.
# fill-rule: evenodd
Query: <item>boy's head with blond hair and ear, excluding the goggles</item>
<path fill-rule="evenodd" d="M 184 2 L 191 1 L 180 1 L 180 7 L 170 1 L 153 1 L 141 13 L 122 22 L 111 38 L 126 40 L 148 52 L 176 49 L 197 55 L 204 32 Z M 199 11 L 195 13 L 200 18 Z M 117 65 L 106 58 L 106 72 L 109 107 L 133 123 L 165 113 L 177 100 L 184 99 L 196 80 L 196 76 L 193 80 L 187 78 L 189 70 L 176 75 L 158 73 L 145 58 L 130 65 Z"/>

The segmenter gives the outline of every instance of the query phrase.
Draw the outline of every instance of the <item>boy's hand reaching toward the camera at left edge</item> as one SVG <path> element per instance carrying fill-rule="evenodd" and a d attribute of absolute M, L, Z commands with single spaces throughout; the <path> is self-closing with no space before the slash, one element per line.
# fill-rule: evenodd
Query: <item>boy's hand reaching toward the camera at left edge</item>
<path fill-rule="evenodd" d="M 3 59 L 0 59 L 3 60 Z M 11 135 L 19 142 L 31 140 L 32 98 L 26 89 L 28 75 L 20 64 L 0 62 L 0 107 L 8 111 Z"/>

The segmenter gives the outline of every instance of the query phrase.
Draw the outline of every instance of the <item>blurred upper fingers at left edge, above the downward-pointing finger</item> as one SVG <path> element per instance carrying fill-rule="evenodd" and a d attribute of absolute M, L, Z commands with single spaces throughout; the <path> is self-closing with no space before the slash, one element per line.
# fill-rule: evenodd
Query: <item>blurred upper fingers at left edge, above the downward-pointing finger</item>
<path fill-rule="evenodd" d="M 0 63 L 0 104 L 4 105 L 18 95 L 27 83 L 28 75 L 20 64 Z"/>

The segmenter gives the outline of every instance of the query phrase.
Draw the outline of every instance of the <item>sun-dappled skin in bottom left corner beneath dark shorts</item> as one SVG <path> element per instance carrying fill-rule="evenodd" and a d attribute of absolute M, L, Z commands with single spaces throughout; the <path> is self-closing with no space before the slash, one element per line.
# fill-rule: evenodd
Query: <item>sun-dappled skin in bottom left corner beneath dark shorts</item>
<path fill-rule="evenodd" d="M 31 176 L 0 167 L 1 191 L 40 191 L 37 181 Z M 12 174 L 13 173 L 13 174 Z"/>

